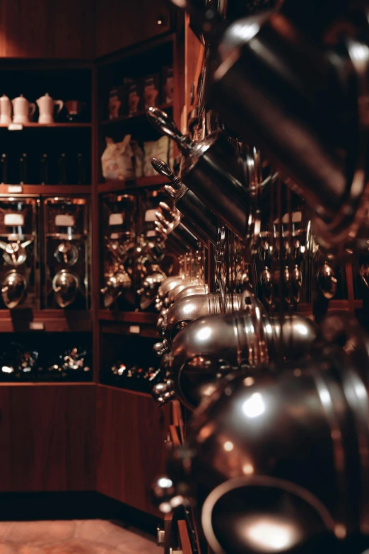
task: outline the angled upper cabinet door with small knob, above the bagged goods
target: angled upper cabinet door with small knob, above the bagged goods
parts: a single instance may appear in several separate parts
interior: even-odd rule
[[[143,42],[170,30],[170,4],[166,0],[97,0],[98,57]]]

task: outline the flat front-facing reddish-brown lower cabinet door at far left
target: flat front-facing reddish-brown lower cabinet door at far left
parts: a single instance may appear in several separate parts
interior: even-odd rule
[[[95,390],[0,386],[0,491],[95,489]]]

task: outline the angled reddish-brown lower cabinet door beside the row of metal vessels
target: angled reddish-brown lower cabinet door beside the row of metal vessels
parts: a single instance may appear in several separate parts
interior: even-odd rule
[[[165,471],[170,408],[150,396],[98,385],[97,490],[144,512],[154,478]]]

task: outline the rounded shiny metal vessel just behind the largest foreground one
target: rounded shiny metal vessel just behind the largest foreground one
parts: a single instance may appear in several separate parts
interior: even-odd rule
[[[195,296],[191,300],[177,302],[168,311],[165,337],[172,349],[171,372],[177,396],[192,410],[221,377],[240,364],[258,367],[278,355],[301,359],[317,340],[315,323],[298,313],[283,316],[281,343],[279,318],[269,318],[260,305],[255,306],[259,311],[255,317],[248,311],[198,317],[195,303],[201,304],[202,299]],[[206,302],[204,311],[209,309]],[[181,306],[176,312],[177,304]],[[188,314],[184,313],[185,306]],[[186,325],[190,319],[183,318],[191,318],[191,310],[198,318]]]

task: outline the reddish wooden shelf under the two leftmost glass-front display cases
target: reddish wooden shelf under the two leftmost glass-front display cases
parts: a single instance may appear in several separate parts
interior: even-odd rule
[[[35,325],[35,328],[33,328]],[[40,327],[37,329],[37,327]],[[18,308],[0,310],[0,333],[76,333],[92,330],[90,311],[33,310]]]

